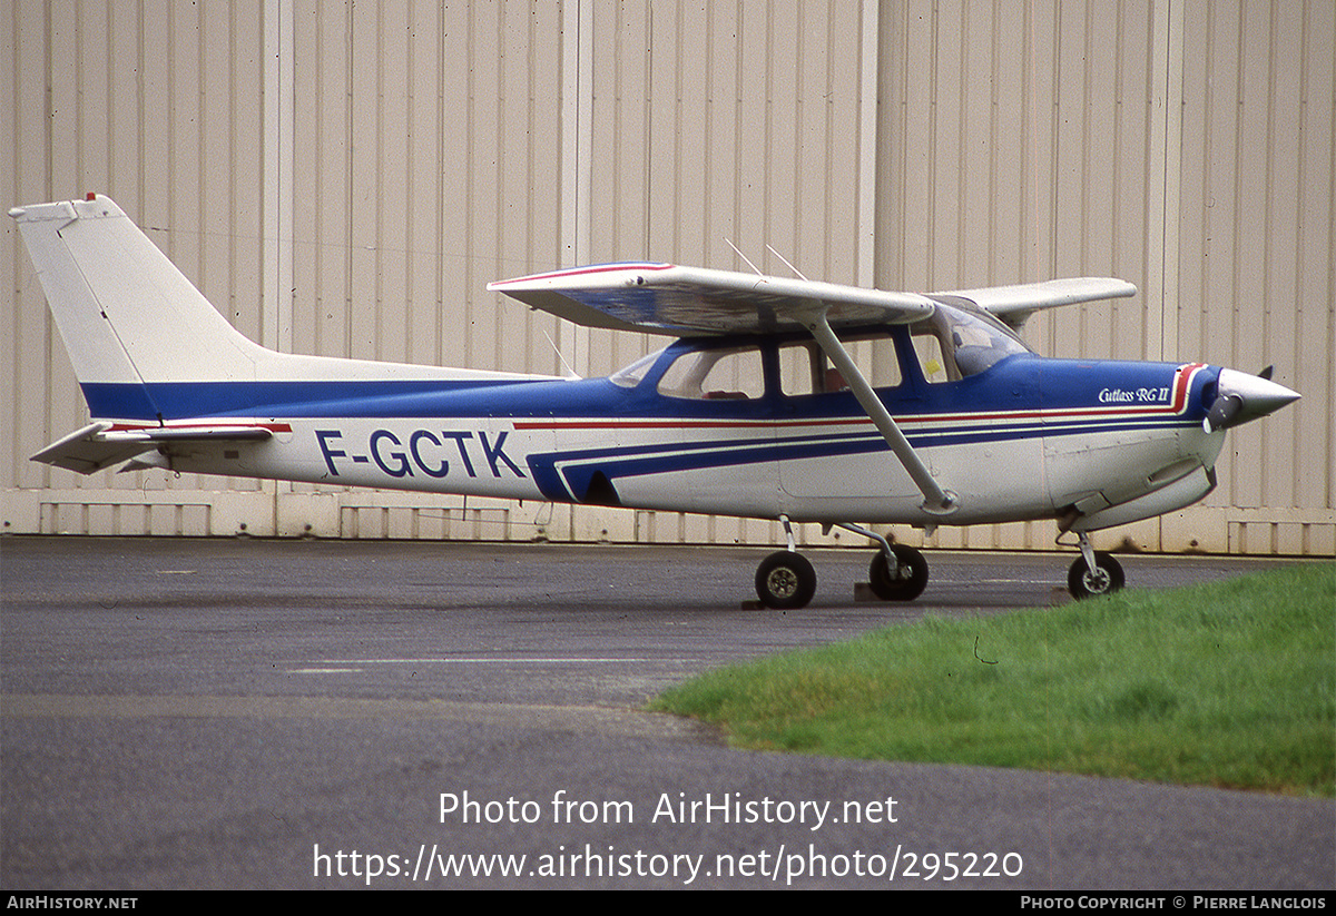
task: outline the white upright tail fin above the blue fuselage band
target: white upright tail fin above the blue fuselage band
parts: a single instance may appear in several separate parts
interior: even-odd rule
[[[110,198],[9,215],[86,391],[99,383],[255,378],[270,351],[228,324]]]

